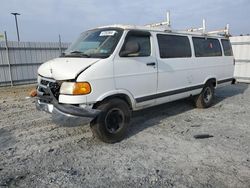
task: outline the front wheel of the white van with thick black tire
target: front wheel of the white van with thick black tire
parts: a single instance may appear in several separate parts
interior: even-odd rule
[[[128,104],[118,98],[98,105],[101,113],[90,123],[93,135],[106,143],[119,142],[126,136],[131,111]]]

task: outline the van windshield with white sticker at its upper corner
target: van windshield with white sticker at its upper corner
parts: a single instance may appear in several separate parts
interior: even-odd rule
[[[103,28],[86,31],[63,53],[63,57],[109,57],[118,44],[123,30]]]

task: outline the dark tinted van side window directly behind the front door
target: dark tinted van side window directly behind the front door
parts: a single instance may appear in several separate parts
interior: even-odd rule
[[[161,58],[191,57],[188,37],[177,35],[157,35]]]

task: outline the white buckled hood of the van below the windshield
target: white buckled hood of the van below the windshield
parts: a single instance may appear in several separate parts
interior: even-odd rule
[[[70,80],[84,69],[96,63],[97,58],[56,58],[43,63],[38,68],[38,74],[55,80]]]

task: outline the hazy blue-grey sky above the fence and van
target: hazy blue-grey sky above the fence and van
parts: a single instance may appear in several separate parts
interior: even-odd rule
[[[108,24],[163,21],[171,12],[174,29],[201,26],[209,30],[230,24],[233,35],[250,33],[250,0],[0,0],[0,32],[17,40],[14,16],[18,16],[21,41],[71,42],[82,31]]]

